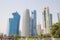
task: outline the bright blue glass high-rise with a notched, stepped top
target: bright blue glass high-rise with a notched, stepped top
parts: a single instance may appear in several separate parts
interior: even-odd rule
[[[9,36],[19,34],[20,15],[18,12],[12,13],[13,18],[9,18]]]

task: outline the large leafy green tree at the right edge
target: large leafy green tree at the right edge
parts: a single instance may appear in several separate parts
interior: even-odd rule
[[[51,26],[50,33],[54,38],[60,38],[60,22],[57,22]]]

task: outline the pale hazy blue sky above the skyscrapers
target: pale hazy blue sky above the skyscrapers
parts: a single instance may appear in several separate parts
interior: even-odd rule
[[[37,11],[37,24],[42,27],[42,11],[45,6],[53,15],[53,23],[58,21],[57,13],[60,12],[60,0],[0,0],[0,33],[8,34],[9,18],[13,12],[18,12],[22,18],[25,9]]]

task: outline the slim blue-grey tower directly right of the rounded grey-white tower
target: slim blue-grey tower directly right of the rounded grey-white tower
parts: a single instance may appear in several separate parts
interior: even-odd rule
[[[30,21],[30,27],[31,27],[31,36],[37,35],[36,30],[36,10],[34,10],[31,14],[31,21]]]

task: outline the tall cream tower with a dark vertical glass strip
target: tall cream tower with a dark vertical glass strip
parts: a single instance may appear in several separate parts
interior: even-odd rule
[[[42,13],[43,17],[43,27],[44,27],[44,34],[50,33],[50,14],[49,14],[49,7],[45,7]]]

